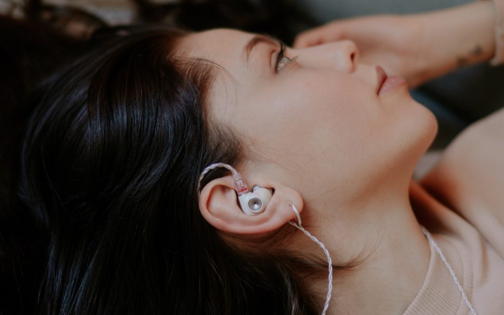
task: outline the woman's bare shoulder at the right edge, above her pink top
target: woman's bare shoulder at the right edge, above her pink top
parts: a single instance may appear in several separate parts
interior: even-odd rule
[[[473,224],[504,232],[504,109],[464,130],[420,184]]]

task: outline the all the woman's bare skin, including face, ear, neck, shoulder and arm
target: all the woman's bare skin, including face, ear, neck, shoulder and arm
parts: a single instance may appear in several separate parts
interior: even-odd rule
[[[272,70],[278,45],[262,43],[244,62],[243,45],[252,34],[212,30],[186,37],[184,55],[213,60],[225,70],[212,86],[208,108],[214,121],[242,139],[238,171],[249,186],[275,189],[264,213],[246,216],[236,205],[231,177],[218,178],[203,188],[202,215],[218,229],[253,236],[293,219],[286,206],[292,201],[335,264],[367,257],[336,274],[328,313],[402,314],[430,259],[415,214],[428,220],[429,213],[456,211],[477,226],[493,227],[493,233],[481,233],[499,244],[495,231],[504,219],[502,176],[496,174],[503,171],[504,113],[471,125],[416,183],[413,168],[435,135],[435,120],[405,86],[376,95],[373,64],[379,60],[416,85],[460,67],[458,60],[487,61],[494,53],[493,19],[492,2],[477,2],[396,20],[334,22],[301,34],[297,49],[285,53],[297,56],[296,62],[278,74]],[[401,33],[405,29],[411,36]],[[342,39],[355,39],[363,57]],[[373,40],[379,44],[367,49]],[[281,246],[326,259],[302,233]],[[323,303],[326,280],[314,281],[311,289]]]

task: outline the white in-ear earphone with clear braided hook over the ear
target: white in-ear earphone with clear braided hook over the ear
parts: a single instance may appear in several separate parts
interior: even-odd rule
[[[238,194],[238,201],[240,203],[240,208],[243,213],[248,215],[256,215],[262,213],[268,202],[271,199],[272,191],[268,188],[260,187],[255,185],[250,192],[245,183],[243,177],[238,173],[234,167],[226,163],[214,163],[207,166],[201,173],[200,179],[198,181],[198,194],[200,193],[200,186],[203,177],[212,169],[217,167],[225,167],[231,171],[233,174],[233,181],[236,193]]]

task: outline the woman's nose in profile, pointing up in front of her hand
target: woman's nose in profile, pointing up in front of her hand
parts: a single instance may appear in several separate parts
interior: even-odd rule
[[[359,51],[351,40],[340,40],[301,49],[293,49],[296,61],[306,67],[335,68],[353,73],[357,68]]]

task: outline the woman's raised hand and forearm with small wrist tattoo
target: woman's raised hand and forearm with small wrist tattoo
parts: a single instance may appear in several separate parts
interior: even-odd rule
[[[478,1],[422,14],[338,20],[299,34],[294,47],[350,39],[359,47],[362,62],[381,65],[415,87],[492,58],[496,12],[494,2]]]

